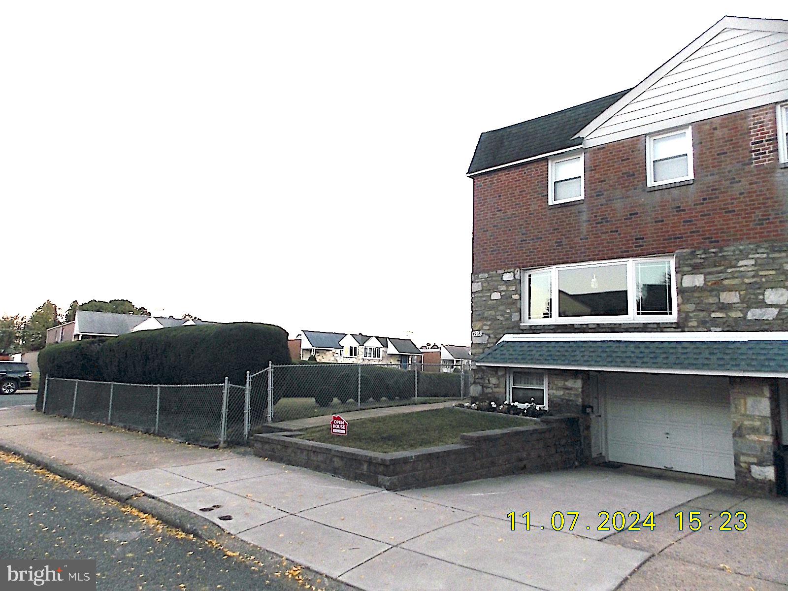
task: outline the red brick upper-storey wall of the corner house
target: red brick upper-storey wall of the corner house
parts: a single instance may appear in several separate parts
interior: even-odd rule
[[[474,178],[474,273],[788,240],[775,106],[693,124],[695,179],[645,184],[645,136],[585,151],[585,200],[548,206],[547,160]]]

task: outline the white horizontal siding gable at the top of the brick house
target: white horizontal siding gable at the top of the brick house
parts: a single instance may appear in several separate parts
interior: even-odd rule
[[[656,80],[638,85],[619,110],[605,114],[606,120],[582,130],[584,145],[788,99],[788,25],[773,21],[764,28],[770,27],[775,30],[723,28]]]

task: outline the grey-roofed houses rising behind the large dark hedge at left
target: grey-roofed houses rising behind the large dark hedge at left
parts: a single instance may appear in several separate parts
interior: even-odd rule
[[[66,322],[46,331],[46,344],[62,343],[67,340],[96,339],[103,336],[136,333],[138,330],[154,330],[170,326],[195,324],[206,324],[206,322],[138,314],[113,314],[111,312],[76,310],[76,316],[72,322]]]

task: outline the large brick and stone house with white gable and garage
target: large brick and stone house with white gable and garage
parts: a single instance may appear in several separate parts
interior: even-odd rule
[[[473,396],[581,415],[589,461],[775,491],[786,72],[788,21],[725,17],[630,90],[481,135]]]

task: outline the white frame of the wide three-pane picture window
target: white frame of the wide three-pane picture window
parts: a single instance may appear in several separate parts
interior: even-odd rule
[[[637,277],[635,269],[638,262],[670,262],[671,265],[671,306],[672,314],[637,314]],[[558,273],[561,269],[582,269],[593,266],[609,266],[626,264],[626,295],[627,313],[621,316],[571,316],[561,318],[558,309]],[[526,281],[530,273],[548,271],[550,273],[550,318],[528,318],[528,289]],[[672,256],[640,257],[640,258],[615,258],[608,261],[593,261],[540,267],[537,269],[523,269],[520,273],[520,325],[558,325],[558,324],[627,324],[645,322],[676,322],[678,320],[678,287],[676,286],[676,261]]]

